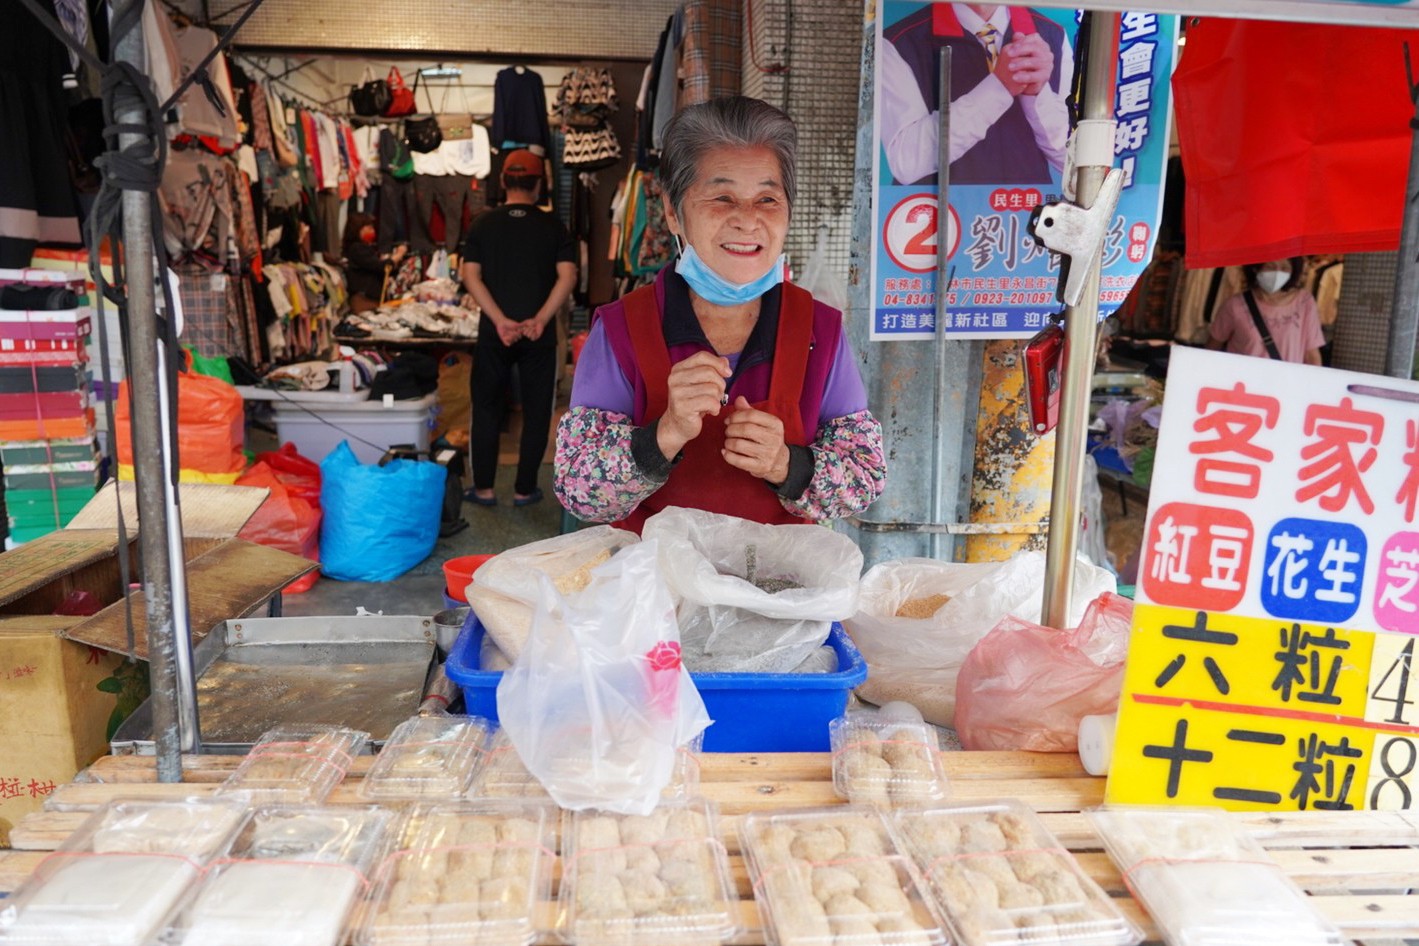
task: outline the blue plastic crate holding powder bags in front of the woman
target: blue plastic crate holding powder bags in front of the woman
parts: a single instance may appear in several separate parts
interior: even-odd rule
[[[482,624],[474,618],[444,664],[463,688],[464,712],[498,718],[502,671],[480,669]],[[827,644],[837,652],[832,674],[691,674],[714,725],[705,752],[827,752],[827,723],[843,715],[853,688],[867,679],[867,662],[841,624]]]

